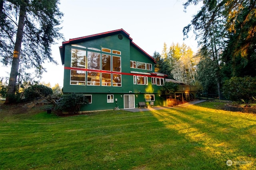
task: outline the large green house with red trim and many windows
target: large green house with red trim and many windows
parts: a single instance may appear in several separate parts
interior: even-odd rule
[[[69,39],[60,47],[63,94],[79,93],[89,103],[81,111],[165,106],[160,97],[165,74],[123,29]]]

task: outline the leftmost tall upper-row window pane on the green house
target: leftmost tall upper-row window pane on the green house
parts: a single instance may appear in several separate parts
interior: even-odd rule
[[[86,51],[71,49],[71,67],[85,68]]]

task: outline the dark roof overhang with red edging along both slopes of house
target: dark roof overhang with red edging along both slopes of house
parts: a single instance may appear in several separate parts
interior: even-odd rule
[[[117,33],[122,33],[124,36],[126,36],[128,39],[130,39],[130,45],[135,47],[138,51],[140,51],[141,53],[146,55],[149,59],[154,61],[154,63],[156,63],[156,61],[153,57],[151,57],[148,53],[146,53],[144,50],[142,50],[138,45],[136,45],[134,42],[132,42],[132,38],[126,31],[124,31],[124,29],[116,29],[116,30],[108,31],[108,32],[104,32],[104,33],[98,33],[98,34],[88,35],[88,36],[84,36],[84,37],[73,38],[73,39],[69,39],[69,41],[62,42],[62,46],[59,47],[62,65],[64,64],[65,45],[78,43],[81,41],[88,41],[91,39],[97,39],[97,38],[101,38],[101,37],[106,37],[106,36],[114,35]]]

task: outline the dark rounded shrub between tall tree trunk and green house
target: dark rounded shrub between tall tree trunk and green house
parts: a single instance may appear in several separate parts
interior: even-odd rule
[[[35,84],[28,87],[24,92],[25,100],[34,100],[37,97],[46,97],[52,95],[52,89],[42,84]]]

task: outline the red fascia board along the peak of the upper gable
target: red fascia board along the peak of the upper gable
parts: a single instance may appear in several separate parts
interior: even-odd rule
[[[93,35],[87,35],[87,36],[84,36],[84,37],[69,39],[69,41],[62,42],[62,45],[69,44],[72,41],[79,41],[79,40],[84,40],[84,39],[88,39],[88,38],[95,38],[95,37],[98,37],[98,36],[106,36],[108,34],[113,34],[113,33],[118,33],[118,32],[124,33],[124,35],[126,35],[126,37],[128,37],[130,39],[130,41],[132,41],[132,38],[130,37],[130,35],[126,31],[124,31],[124,29],[116,29],[116,30],[107,31],[107,32],[104,32],[104,33],[98,33],[98,34],[93,34]]]

